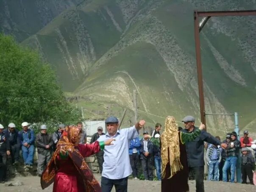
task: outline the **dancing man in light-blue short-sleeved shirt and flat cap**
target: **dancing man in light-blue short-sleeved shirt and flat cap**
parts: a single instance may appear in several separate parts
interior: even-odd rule
[[[114,145],[105,146],[104,163],[101,177],[102,192],[111,192],[113,186],[117,192],[127,192],[128,176],[131,175],[131,164],[129,160],[129,144],[131,139],[139,136],[139,130],[145,125],[140,120],[131,128],[118,129],[117,117],[108,117],[105,120],[108,132],[100,136],[98,141],[106,141],[114,138]]]

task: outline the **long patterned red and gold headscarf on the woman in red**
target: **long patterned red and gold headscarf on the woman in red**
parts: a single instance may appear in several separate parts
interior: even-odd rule
[[[86,161],[83,156],[80,154],[79,150],[75,148],[75,143],[78,140],[79,133],[81,128],[76,126],[66,127],[63,134],[61,135],[61,139],[58,142],[57,149],[52,156],[49,164],[46,169],[42,173],[41,176],[41,186],[42,189],[50,186],[55,179],[55,175],[57,172],[56,161],[57,156],[60,153],[61,146],[64,147],[65,150],[68,150],[68,156],[72,159],[78,173],[83,178],[83,183],[86,189],[86,192],[101,192],[100,184],[95,179],[92,174],[92,171],[89,169]]]

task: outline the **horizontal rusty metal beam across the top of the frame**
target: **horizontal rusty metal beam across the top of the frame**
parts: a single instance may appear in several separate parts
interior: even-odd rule
[[[199,17],[220,17],[220,16],[253,16],[256,10],[248,11],[195,11]]]

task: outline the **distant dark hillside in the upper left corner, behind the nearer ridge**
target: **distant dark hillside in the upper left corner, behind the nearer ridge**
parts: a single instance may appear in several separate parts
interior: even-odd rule
[[[84,0],[1,0],[0,32],[20,42],[47,25],[62,11]]]

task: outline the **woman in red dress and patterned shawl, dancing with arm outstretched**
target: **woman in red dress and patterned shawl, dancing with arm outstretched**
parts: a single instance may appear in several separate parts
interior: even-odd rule
[[[53,184],[53,192],[101,192],[100,184],[89,169],[84,157],[111,145],[114,139],[92,144],[78,144],[81,128],[66,127],[52,159],[41,176],[41,186],[45,189]]]

